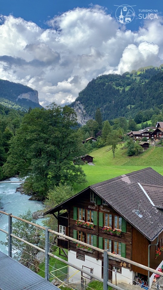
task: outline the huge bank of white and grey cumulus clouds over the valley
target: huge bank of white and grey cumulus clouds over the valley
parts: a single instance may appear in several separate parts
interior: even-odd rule
[[[1,22],[0,78],[37,89],[43,106],[74,101],[100,74],[163,63],[161,18],[133,32],[96,5],[55,16],[44,30],[12,15]]]

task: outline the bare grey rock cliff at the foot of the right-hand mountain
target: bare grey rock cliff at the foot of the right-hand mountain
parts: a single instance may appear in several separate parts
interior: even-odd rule
[[[92,116],[86,113],[83,105],[79,101],[75,101],[72,107],[77,114],[78,124],[83,126],[88,120],[92,119]]]

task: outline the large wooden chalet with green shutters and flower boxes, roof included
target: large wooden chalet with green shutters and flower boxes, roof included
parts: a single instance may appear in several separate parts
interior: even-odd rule
[[[147,271],[124,263],[121,257],[153,269],[162,266],[163,176],[155,170],[149,167],[90,185],[45,214],[57,217],[59,233],[79,241],[76,244],[57,238],[58,246],[68,249],[71,263],[93,269],[95,275],[103,277],[101,253],[82,249],[80,241],[83,241],[117,253],[117,259],[109,258],[110,281],[115,283],[116,269],[117,283],[132,284],[137,275],[143,276],[146,282],[149,279],[151,287],[154,274],[150,273],[149,278]],[[160,251],[160,255],[156,251]],[[80,274],[72,270],[69,277],[71,275],[73,282],[81,279]]]

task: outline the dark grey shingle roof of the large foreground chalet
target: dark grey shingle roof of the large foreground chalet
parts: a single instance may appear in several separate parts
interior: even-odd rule
[[[157,184],[159,184],[160,188],[163,188],[163,176],[148,167],[99,182],[89,186],[89,188],[107,201],[115,211],[122,215],[147,239],[153,241],[163,231],[163,212],[157,208],[160,202],[155,198],[155,195],[158,194],[157,192],[161,191],[161,189],[158,189]],[[153,190],[150,188],[153,188]],[[154,188],[156,188],[156,193]],[[84,191],[77,195],[82,195]],[[73,198],[70,199],[73,200]],[[67,201],[70,201],[70,199]],[[67,201],[47,211],[45,214],[58,211]],[[139,201],[141,218],[135,213],[137,201]],[[73,203],[73,201],[71,202]]]

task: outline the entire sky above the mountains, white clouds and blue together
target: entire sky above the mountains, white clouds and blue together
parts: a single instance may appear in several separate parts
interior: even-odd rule
[[[163,63],[162,11],[160,0],[1,0],[0,78],[43,106],[72,102],[98,75]]]

